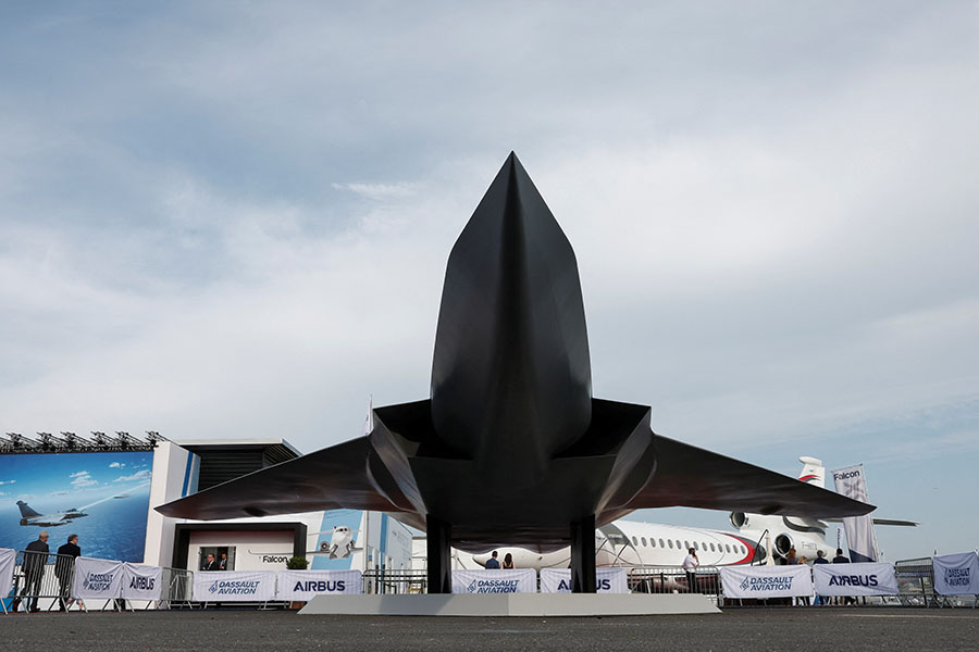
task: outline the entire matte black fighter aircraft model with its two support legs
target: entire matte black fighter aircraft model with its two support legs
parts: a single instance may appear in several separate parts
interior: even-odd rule
[[[873,510],[656,435],[649,413],[592,398],[574,252],[511,152],[449,254],[431,398],[376,408],[367,436],[157,510],[199,519],[388,512],[426,531],[431,593],[451,591],[450,546],[569,543],[572,590],[595,592],[595,527],[633,510]]]

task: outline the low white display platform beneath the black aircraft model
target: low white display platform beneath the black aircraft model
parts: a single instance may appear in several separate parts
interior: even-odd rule
[[[699,593],[506,593],[495,595],[317,595],[300,615],[362,616],[648,616],[719,614]]]

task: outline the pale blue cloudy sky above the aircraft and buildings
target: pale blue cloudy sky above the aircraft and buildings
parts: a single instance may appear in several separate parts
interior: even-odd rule
[[[976,2],[5,2],[0,430],[359,435],[516,150],[596,396],[971,550],[976,115]]]

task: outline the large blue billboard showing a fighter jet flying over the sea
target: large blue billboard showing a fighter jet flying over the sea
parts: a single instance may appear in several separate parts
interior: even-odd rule
[[[152,451],[0,455],[0,548],[48,530],[51,552],[78,535],[82,554],[141,562]]]

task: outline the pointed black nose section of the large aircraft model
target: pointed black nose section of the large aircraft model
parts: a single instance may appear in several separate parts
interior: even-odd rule
[[[431,409],[497,492],[540,481],[592,419],[574,251],[512,154],[449,254]]]

